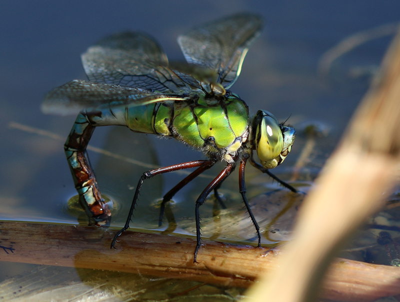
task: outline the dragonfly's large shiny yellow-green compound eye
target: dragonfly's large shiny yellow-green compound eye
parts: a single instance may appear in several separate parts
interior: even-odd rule
[[[259,110],[255,117],[255,150],[264,168],[275,168],[283,149],[283,135],[277,119],[268,111]]]

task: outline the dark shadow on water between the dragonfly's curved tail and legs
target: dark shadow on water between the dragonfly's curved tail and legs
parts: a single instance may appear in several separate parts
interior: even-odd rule
[[[143,172],[158,166],[157,155],[151,140],[143,134],[132,133],[125,127],[112,127],[103,148],[120,158],[101,155],[94,164],[100,191],[117,204],[112,213],[112,225],[122,225],[132,202],[136,183]],[[135,159],[138,164],[121,158]],[[141,165],[140,165],[141,163]],[[148,205],[162,196],[162,177],[154,177],[143,185],[135,218],[131,227],[154,228],[156,215]],[[151,217],[149,217],[151,216]]]

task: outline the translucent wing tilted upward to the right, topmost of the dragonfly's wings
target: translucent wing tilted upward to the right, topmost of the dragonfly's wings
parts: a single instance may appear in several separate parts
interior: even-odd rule
[[[180,35],[178,43],[189,64],[214,70],[219,75],[218,82],[230,88],[261,27],[258,15],[235,14]]]

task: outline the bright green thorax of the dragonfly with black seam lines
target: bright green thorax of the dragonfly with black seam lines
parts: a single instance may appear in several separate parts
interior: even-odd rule
[[[248,137],[248,107],[235,95],[175,102],[171,132],[213,158],[233,162]]]

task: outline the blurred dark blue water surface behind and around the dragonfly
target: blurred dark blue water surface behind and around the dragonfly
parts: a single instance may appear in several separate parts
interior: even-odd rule
[[[86,79],[80,54],[87,47],[110,33],[139,30],[152,35],[169,60],[183,60],[176,42],[179,34],[237,12],[260,14],[264,29],[231,90],[246,101],[250,112],[268,110],[297,129],[292,153],[273,172],[306,190],[376,72],[400,21],[399,11],[396,0],[1,1],[0,219],[77,222],[66,210],[76,191],[63,152],[75,116],[43,115],[40,103],[52,88]],[[344,39],[347,43],[340,44]],[[293,178],[293,167],[307,144],[308,125],[322,135]],[[149,165],[204,158],[174,140],[123,127],[99,127],[90,145],[125,158],[89,151],[99,187],[117,207],[115,227],[123,224],[133,189]],[[207,171],[176,195],[172,212],[181,225],[188,221],[193,226],[194,201],[221,168]],[[140,214],[131,226],[156,229],[157,201],[182,177],[174,173],[148,181],[137,207]],[[246,179],[250,197],[278,188],[251,167]],[[220,191],[229,207],[242,208],[237,173]],[[212,203],[204,205],[204,217],[211,210]],[[192,234],[179,227],[176,231]]]

